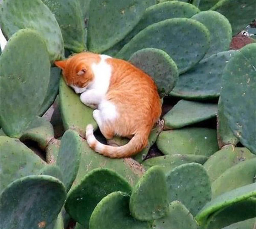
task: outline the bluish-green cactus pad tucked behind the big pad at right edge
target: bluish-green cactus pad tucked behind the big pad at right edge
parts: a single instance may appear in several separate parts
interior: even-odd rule
[[[201,60],[179,76],[170,95],[184,99],[214,99],[220,95],[222,71],[236,51],[224,51]]]

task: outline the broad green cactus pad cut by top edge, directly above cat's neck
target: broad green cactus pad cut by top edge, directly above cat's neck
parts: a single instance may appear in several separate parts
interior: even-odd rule
[[[140,0],[91,1],[87,35],[89,50],[100,53],[122,40],[139,22],[145,8],[146,1]]]

